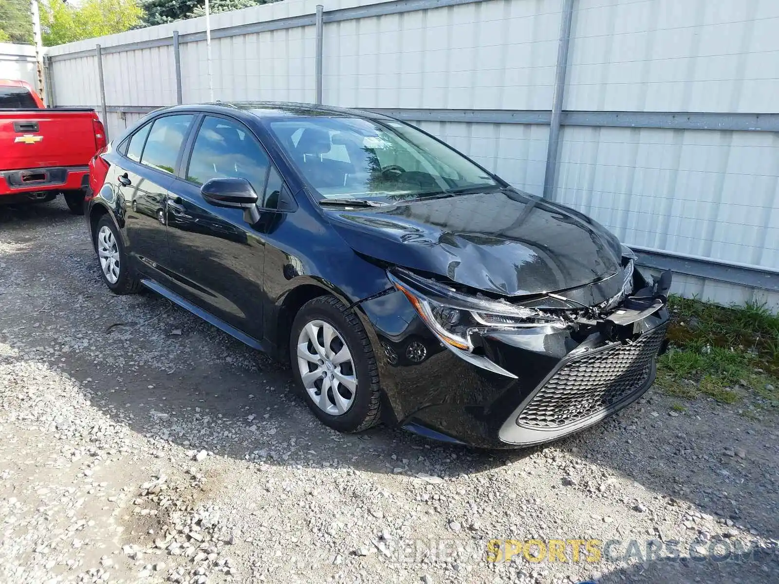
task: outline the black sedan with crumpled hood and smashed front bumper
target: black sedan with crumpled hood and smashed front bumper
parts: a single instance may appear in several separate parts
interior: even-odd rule
[[[155,111],[91,163],[105,283],[154,290],[291,363],[319,420],[490,448],[637,399],[664,348],[647,280],[594,220],[366,111]]]

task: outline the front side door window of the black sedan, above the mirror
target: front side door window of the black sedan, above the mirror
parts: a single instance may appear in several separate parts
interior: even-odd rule
[[[192,146],[187,180],[203,185],[217,177],[245,178],[261,195],[269,165],[262,146],[243,125],[206,116]]]

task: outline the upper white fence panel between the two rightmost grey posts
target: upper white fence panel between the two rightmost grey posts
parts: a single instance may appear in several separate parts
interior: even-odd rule
[[[548,109],[559,0],[492,0],[326,23],[327,104]]]

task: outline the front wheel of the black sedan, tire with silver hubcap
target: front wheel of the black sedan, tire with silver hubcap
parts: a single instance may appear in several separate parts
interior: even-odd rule
[[[354,311],[332,296],[308,301],[289,344],[295,383],[323,424],[359,432],[379,423],[379,369]]]

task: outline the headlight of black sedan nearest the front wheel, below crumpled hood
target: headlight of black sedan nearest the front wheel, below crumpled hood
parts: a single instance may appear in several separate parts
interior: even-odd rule
[[[442,343],[472,352],[474,337],[489,330],[551,326],[564,329],[562,318],[507,301],[471,296],[428,280],[407,270],[387,272],[393,285],[403,292],[420,318]]]

